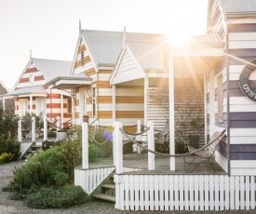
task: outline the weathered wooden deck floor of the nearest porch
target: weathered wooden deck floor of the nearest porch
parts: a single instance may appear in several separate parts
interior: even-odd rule
[[[190,156],[187,157],[191,158]],[[196,158],[192,166],[202,161],[202,158]],[[95,162],[89,163],[89,168],[97,167],[111,167],[113,166],[113,158],[99,158]],[[169,170],[169,158],[166,156],[155,155],[155,170],[147,170],[148,159],[147,154],[125,154],[124,155],[124,167],[136,167],[145,169],[143,171],[126,172],[129,174],[188,174],[188,175],[225,175],[226,172],[216,162],[214,162],[215,172],[213,167],[209,164],[208,160],[202,162],[195,167],[195,170],[188,173],[184,169],[184,160],[182,157],[176,157],[176,170]],[[189,167],[188,167],[189,168]]]

